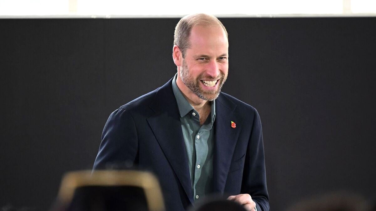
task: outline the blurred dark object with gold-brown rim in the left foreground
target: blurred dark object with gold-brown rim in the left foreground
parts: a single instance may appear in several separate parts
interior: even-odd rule
[[[53,211],[164,211],[156,177],[137,170],[67,173]]]

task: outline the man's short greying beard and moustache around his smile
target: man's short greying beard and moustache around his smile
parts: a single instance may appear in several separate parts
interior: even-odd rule
[[[203,73],[200,74],[196,79],[194,79],[189,74],[188,66],[186,65],[185,61],[183,60],[182,68],[180,69],[180,79],[185,84],[186,87],[188,87],[193,93],[195,93],[199,98],[207,101],[213,101],[218,98],[219,93],[221,92],[221,88],[224,84],[224,81],[227,79],[227,75],[224,75],[222,72],[220,72],[220,75],[218,78],[212,78],[212,77],[203,77]],[[218,80],[218,89],[216,90],[204,90],[202,89],[200,83],[200,78],[205,80]],[[205,86],[205,85],[204,85]]]

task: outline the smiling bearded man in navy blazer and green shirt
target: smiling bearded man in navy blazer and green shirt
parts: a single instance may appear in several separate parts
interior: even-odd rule
[[[259,115],[220,92],[228,73],[223,24],[206,14],[183,17],[173,60],[173,79],[110,115],[94,169],[124,161],[151,169],[171,211],[212,193],[269,210]]]

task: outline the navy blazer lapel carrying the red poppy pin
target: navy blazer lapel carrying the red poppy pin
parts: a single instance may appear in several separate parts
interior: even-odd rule
[[[241,118],[234,113],[236,105],[222,93],[215,101],[215,135],[213,190],[223,193],[232,155],[241,131]],[[231,127],[231,121],[236,127]]]

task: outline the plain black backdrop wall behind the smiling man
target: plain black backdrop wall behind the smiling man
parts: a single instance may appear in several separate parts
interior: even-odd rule
[[[376,18],[221,18],[223,91],[261,116],[270,205],[374,197]],[[176,18],[0,20],[0,207],[47,209],[108,115],[173,77]]]

